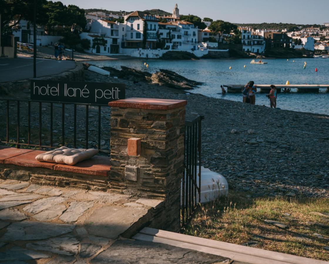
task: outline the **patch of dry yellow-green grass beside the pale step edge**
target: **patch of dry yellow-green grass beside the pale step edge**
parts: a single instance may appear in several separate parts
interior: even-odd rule
[[[329,247],[329,223],[312,213],[328,213],[328,205],[326,198],[250,198],[231,191],[227,198],[203,205],[184,233],[234,244],[257,241],[257,248],[329,260],[329,251],[323,249]],[[280,229],[266,219],[289,227]],[[293,236],[312,241],[300,242]]]

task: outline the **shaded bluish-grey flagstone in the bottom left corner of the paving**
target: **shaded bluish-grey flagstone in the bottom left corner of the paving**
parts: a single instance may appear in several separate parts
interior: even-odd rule
[[[4,260],[32,260],[39,258],[49,258],[50,256],[45,253],[36,252],[29,249],[23,249],[21,247],[13,247],[5,252],[0,252],[0,259]],[[17,263],[15,261],[15,263]],[[26,263],[26,262],[24,262]]]

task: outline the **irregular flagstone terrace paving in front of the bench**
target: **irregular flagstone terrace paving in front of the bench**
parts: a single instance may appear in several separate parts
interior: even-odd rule
[[[122,241],[120,234],[140,224],[139,220],[149,210],[158,208],[161,200],[72,187],[40,186],[17,180],[0,179],[0,185],[0,219],[4,220],[0,220],[0,261],[15,264],[25,261],[42,264],[127,263],[129,257],[133,260],[134,254],[140,263],[194,263],[198,260],[199,256],[192,257],[180,248],[141,246],[133,240],[118,242]],[[123,255],[115,256],[116,253]],[[157,256],[152,259],[149,253]],[[172,259],[165,262],[169,258]],[[220,257],[216,256],[215,260]],[[207,261],[200,263],[214,263]]]

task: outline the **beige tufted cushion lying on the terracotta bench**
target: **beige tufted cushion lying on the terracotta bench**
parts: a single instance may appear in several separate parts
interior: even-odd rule
[[[67,165],[75,165],[80,161],[88,160],[98,153],[97,149],[68,148],[62,146],[54,150],[39,154],[36,160],[40,162],[51,162]]]

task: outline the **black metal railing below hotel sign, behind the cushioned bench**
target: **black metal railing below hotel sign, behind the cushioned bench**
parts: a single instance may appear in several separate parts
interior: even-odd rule
[[[3,102],[5,104],[3,104]],[[3,117],[2,121],[6,122],[6,126],[4,126],[4,123],[0,126],[1,143],[15,145],[16,148],[52,149],[58,148],[61,145],[76,148],[78,145],[78,135],[80,138],[84,136],[83,139],[79,140],[80,143],[78,147],[92,147],[97,148],[100,153],[110,153],[110,131],[106,133],[108,137],[105,136],[108,141],[108,148],[105,147],[101,149],[101,143],[103,143],[101,139],[102,110],[108,112],[106,114],[110,116],[110,107],[98,104],[17,99],[0,99],[0,103],[6,105],[6,110],[4,110],[4,107],[0,107],[0,115]],[[54,107],[56,107],[55,113]],[[98,117],[98,119],[93,119],[92,121],[92,126],[97,127],[97,129],[92,128],[93,131],[89,130],[89,108],[92,108],[93,113],[97,113]],[[2,121],[0,121],[0,124]],[[107,122],[110,123],[109,120],[107,120]],[[80,125],[81,123],[84,123],[84,131],[80,129],[77,133],[77,124]],[[61,131],[55,130],[54,125]],[[65,126],[70,126],[70,128],[66,128],[67,131],[65,131]],[[5,131],[4,127],[6,127]],[[97,130],[97,134],[94,132],[95,130]],[[56,135],[54,136],[55,132]],[[103,131],[103,134],[104,133]],[[90,136],[93,141],[89,144]],[[54,139],[56,139],[57,142],[54,142]],[[105,142],[106,141],[104,141],[104,144]]]

